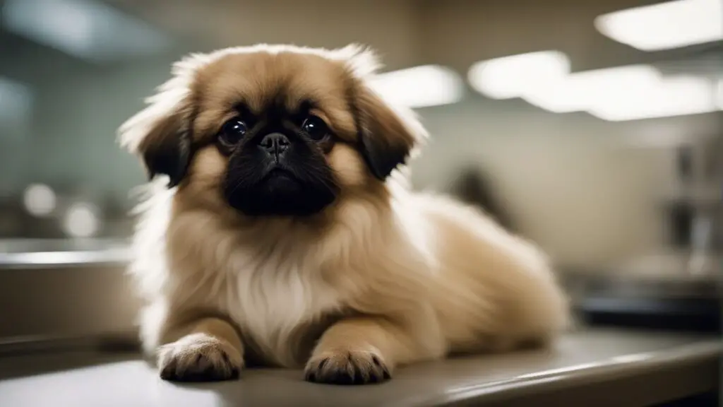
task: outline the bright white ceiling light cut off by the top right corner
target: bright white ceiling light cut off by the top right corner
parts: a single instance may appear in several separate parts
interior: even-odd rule
[[[659,51],[723,40],[723,1],[676,0],[596,17],[594,25],[613,40]]]

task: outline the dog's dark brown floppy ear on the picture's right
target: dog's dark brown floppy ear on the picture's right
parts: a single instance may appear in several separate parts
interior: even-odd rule
[[[356,114],[361,154],[372,175],[385,180],[427,138],[427,130],[411,109],[393,106],[372,89],[367,77],[379,67],[373,51],[348,46],[346,64],[350,68],[352,85],[350,104]]]

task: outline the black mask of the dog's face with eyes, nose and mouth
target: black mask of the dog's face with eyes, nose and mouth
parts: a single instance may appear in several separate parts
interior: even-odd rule
[[[228,159],[226,201],[249,215],[314,214],[339,191],[326,158],[333,133],[310,100],[269,102],[260,112],[237,107],[221,127],[216,144]]]

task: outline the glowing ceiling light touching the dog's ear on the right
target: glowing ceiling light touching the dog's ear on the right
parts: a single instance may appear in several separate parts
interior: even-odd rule
[[[385,100],[413,109],[454,104],[464,94],[457,72],[439,65],[385,72],[372,77],[370,85]]]

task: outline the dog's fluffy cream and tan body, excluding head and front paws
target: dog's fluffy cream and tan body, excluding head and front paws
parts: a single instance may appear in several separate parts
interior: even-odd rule
[[[265,236],[250,237],[254,245],[250,231],[214,213],[171,221],[175,191],[153,189],[132,267],[151,304],[142,318],[147,351],[163,343],[169,308],[226,314],[270,363],[287,367],[304,364],[306,355],[294,353],[297,327],[348,308],[408,322],[422,343],[403,362],[505,350],[547,340],[567,324],[544,255],[448,198],[390,185],[393,204],[346,204],[343,222],[315,240],[304,226],[278,221],[259,227]],[[167,251],[180,257],[172,272]],[[184,267],[186,256],[193,266]]]

